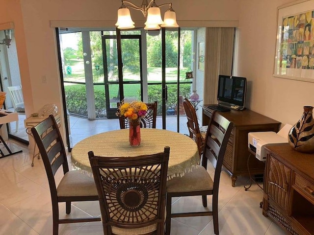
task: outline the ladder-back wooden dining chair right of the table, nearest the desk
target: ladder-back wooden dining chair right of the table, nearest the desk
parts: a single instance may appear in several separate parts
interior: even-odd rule
[[[221,167],[227,148],[227,143],[233,128],[233,122],[227,120],[217,112],[213,112],[209,120],[202,164],[196,166],[189,173],[182,177],[174,177],[167,181],[166,194],[166,235],[170,235],[171,218],[212,215],[214,233],[219,234],[218,226],[218,189]],[[210,161],[215,168],[214,179],[212,180],[207,171],[207,161]],[[212,195],[212,211],[200,212],[171,212],[173,197],[201,195],[203,206],[207,207],[207,195]]]

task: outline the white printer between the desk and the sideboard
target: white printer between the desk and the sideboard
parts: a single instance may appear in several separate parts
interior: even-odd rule
[[[291,125],[286,124],[278,133],[273,131],[249,132],[248,148],[255,153],[260,161],[266,161],[265,146],[288,143],[288,132]]]

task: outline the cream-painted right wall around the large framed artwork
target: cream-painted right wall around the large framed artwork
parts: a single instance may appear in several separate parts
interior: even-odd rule
[[[314,6],[314,0],[312,6]],[[249,80],[249,108],[294,124],[314,106],[314,83],[273,77],[277,7],[291,0],[241,0],[237,74]]]

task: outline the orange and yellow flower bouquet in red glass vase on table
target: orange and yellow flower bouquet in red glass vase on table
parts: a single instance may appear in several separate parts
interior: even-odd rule
[[[147,105],[142,101],[133,101],[131,103],[121,102],[118,107],[117,116],[127,118],[130,123],[129,141],[132,146],[140,145],[140,120],[146,115]]]

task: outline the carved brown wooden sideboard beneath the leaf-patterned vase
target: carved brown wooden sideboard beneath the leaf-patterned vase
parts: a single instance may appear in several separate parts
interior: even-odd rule
[[[266,147],[263,215],[292,235],[314,234],[314,154]]]

